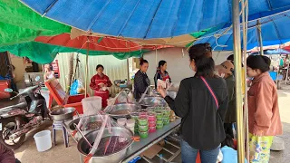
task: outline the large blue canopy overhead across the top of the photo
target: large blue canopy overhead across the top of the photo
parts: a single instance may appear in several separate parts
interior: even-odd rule
[[[231,0],[22,0],[39,14],[83,31],[131,38],[191,34],[231,22]],[[249,17],[290,7],[290,0],[248,0]]]

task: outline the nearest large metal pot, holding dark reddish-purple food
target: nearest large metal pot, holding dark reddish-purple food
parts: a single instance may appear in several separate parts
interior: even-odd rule
[[[99,130],[94,130],[88,133],[87,135],[85,135],[85,137],[92,144],[92,142],[96,139],[98,133],[99,133]],[[121,159],[125,157],[127,150],[131,147],[131,144],[133,143],[133,140],[131,139],[131,137],[133,136],[132,131],[126,128],[112,127],[111,133],[110,133],[109,130],[106,128],[103,132],[102,138],[109,137],[109,136],[121,136],[123,138],[128,139],[129,143],[123,149],[111,155],[102,156],[102,157],[93,156],[90,160],[90,163],[101,163],[101,162],[102,163],[116,163],[116,162],[120,162]],[[85,142],[84,139],[80,139],[77,147],[81,155],[81,162],[83,162],[83,158],[85,158],[85,156],[87,155],[85,151],[89,149],[89,145]]]

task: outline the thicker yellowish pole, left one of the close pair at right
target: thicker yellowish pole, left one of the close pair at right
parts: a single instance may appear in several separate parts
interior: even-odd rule
[[[233,0],[233,36],[234,36],[234,63],[236,78],[236,102],[237,102],[237,160],[245,162],[245,136],[243,125],[243,95],[242,95],[242,58],[241,58],[241,31],[239,18],[239,0]]]

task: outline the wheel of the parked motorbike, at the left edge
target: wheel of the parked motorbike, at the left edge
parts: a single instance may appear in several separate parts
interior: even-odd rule
[[[7,149],[18,149],[24,143],[25,134],[14,140],[10,140],[8,138],[10,130],[15,128],[15,120],[2,123],[2,130],[0,131],[0,143],[2,143]]]

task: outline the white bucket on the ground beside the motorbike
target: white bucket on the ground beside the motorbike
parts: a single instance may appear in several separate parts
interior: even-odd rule
[[[36,148],[39,152],[52,148],[52,137],[50,130],[43,130],[34,135]]]

